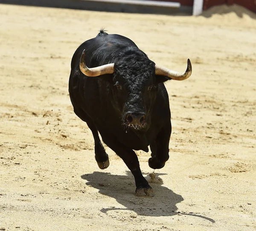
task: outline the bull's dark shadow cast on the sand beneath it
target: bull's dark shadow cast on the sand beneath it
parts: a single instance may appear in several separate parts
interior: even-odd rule
[[[137,197],[134,195],[135,184],[131,173],[128,176],[111,175],[110,173],[94,172],[81,176],[87,180],[87,185],[99,189],[99,193],[111,196],[125,208],[102,208],[106,213],[110,210],[131,210],[144,216],[173,216],[176,215],[176,204],[183,201],[183,197],[174,193],[159,183],[150,183],[155,196]]]

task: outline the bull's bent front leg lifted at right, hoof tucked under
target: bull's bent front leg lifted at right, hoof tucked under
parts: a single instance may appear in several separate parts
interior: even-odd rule
[[[149,167],[160,169],[164,167],[165,162],[169,159],[169,141],[172,133],[171,121],[160,130],[156,139],[151,142],[151,158],[148,159]]]

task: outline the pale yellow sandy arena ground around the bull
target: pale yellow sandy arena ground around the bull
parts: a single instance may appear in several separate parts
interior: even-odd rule
[[[256,20],[0,5],[0,230],[253,231],[256,229]],[[240,16],[241,16],[240,15]],[[210,15],[211,16],[211,15]],[[73,113],[70,60],[101,27],[125,35],[169,81],[170,159],[153,198],[134,196],[108,147]],[[150,179],[149,153],[137,152]]]

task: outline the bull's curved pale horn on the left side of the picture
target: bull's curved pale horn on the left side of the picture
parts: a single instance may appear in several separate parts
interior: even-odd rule
[[[96,77],[99,75],[106,75],[106,74],[113,74],[114,72],[114,65],[115,64],[105,64],[102,66],[97,66],[93,68],[89,68],[85,64],[85,50],[83,51],[81,58],[80,58],[80,70],[84,75],[89,77]]]

